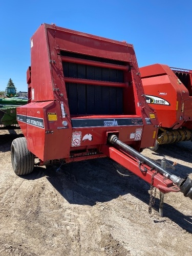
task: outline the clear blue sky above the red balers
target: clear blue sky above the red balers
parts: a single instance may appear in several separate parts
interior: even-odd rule
[[[9,78],[27,91],[30,37],[42,23],[129,42],[139,67],[192,70],[191,9],[191,0],[1,0],[0,91]]]

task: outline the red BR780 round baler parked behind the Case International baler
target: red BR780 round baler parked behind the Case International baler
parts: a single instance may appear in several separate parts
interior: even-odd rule
[[[155,108],[159,144],[192,139],[192,71],[154,64],[139,69],[146,102]]]

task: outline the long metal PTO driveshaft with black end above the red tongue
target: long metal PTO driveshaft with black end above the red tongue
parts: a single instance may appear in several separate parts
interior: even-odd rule
[[[142,154],[140,154],[139,152],[134,150],[134,148],[132,148],[132,147],[126,145],[125,143],[123,143],[122,141],[120,141],[118,139],[118,137],[114,134],[110,135],[108,137],[108,141],[110,143],[114,144],[115,146],[117,146],[118,148],[120,148],[120,150],[128,152],[133,157],[137,158],[139,160],[139,164],[140,164],[140,162],[142,162],[142,163],[145,163],[146,165],[150,166],[152,169],[157,170],[161,175],[163,175],[164,177],[166,177],[167,179],[172,181],[176,186],[178,186],[178,188],[184,194],[185,197],[189,197],[190,199],[192,199],[192,180],[190,178],[186,177],[186,178],[182,179],[182,178],[168,172],[166,169],[159,166],[151,159],[143,156]],[[144,171],[148,172],[148,170],[145,168],[144,168]],[[143,170],[142,170],[142,172],[143,172]]]

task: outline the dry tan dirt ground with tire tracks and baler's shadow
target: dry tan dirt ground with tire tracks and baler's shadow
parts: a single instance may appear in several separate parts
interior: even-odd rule
[[[14,174],[10,159],[20,130],[0,130],[0,255],[192,255],[192,202],[168,193],[159,217],[159,192],[148,214],[150,185],[108,158],[35,166]],[[192,143],[142,154],[174,174],[192,178]]]

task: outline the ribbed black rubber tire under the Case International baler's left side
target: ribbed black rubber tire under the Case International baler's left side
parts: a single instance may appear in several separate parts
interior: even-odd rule
[[[16,138],[11,143],[11,162],[16,175],[33,172],[34,155],[27,148],[25,137]]]

